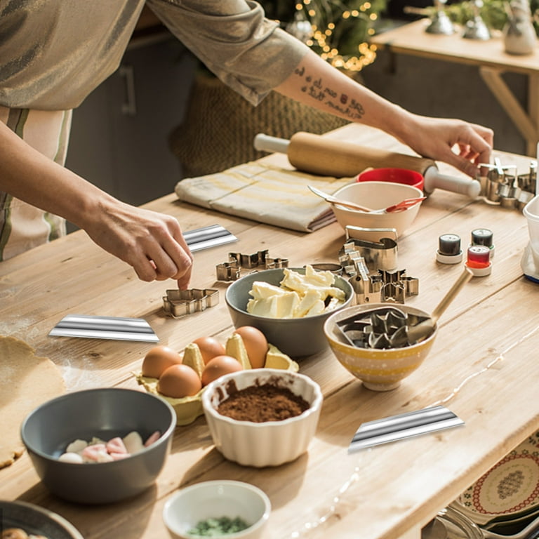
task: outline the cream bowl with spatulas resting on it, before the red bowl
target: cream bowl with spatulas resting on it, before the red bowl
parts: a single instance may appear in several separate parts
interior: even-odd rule
[[[404,199],[422,197],[423,192],[413,185],[392,182],[354,182],[341,187],[333,194],[335,198],[361,204],[373,210],[387,208]],[[335,204],[333,213],[340,226],[362,228],[394,228],[401,237],[417,217],[421,202],[397,213],[366,213]]]

